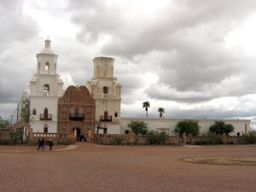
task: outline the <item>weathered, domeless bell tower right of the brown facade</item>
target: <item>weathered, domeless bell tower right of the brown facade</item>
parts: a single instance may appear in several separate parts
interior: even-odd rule
[[[91,96],[96,100],[96,120],[102,122],[104,133],[120,133],[121,84],[113,77],[111,57],[96,57],[94,77],[87,83]]]

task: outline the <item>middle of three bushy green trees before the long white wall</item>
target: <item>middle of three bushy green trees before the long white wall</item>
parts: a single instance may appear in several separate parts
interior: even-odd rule
[[[189,135],[197,136],[197,135],[199,135],[200,129],[201,129],[201,127],[200,127],[200,125],[198,125],[197,120],[185,119],[185,120],[177,122],[174,132],[178,133],[179,137],[182,137],[183,133],[185,133],[186,136],[189,136]]]

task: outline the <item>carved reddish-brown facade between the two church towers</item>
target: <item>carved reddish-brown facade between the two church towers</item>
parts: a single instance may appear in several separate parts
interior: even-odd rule
[[[58,102],[58,132],[90,137],[95,131],[96,102],[85,86],[69,86]]]

